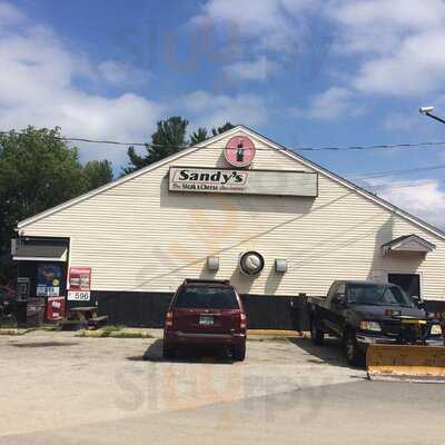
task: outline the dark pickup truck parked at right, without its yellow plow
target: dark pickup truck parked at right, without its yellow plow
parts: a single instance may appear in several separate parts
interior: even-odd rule
[[[444,345],[441,322],[392,284],[337,280],[327,297],[308,297],[310,337],[342,339],[346,359],[363,366],[372,343]]]

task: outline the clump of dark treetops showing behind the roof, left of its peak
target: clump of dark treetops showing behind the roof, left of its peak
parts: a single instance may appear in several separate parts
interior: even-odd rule
[[[160,120],[157,125],[157,130],[151,135],[151,144],[147,144],[146,146],[145,156],[139,156],[134,147],[128,148],[129,165],[122,169],[122,175],[139,170],[142,167],[149,166],[209,138],[207,129],[199,127],[190,135],[190,140],[187,141],[187,126],[188,120],[178,116]],[[211,134],[212,136],[217,136],[234,127],[230,122],[226,122],[221,127],[212,128]]]

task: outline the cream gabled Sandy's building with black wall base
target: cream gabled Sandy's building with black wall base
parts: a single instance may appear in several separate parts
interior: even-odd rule
[[[31,296],[98,300],[117,323],[161,325],[186,277],[230,279],[258,327],[290,327],[290,299],[324,295],[334,279],[389,280],[445,300],[443,231],[243,126],[18,233]],[[259,255],[241,270],[248,251]]]

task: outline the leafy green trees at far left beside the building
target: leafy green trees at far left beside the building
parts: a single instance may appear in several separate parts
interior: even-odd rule
[[[11,276],[10,240],[18,221],[111,178],[108,161],[83,168],[59,128],[0,134],[0,283]]]

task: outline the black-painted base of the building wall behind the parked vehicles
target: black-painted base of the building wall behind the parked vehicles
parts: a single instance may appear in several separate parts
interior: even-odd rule
[[[132,327],[164,327],[172,293],[95,290],[99,314],[109,323]],[[241,295],[251,329],[308,330],[305,298],[287,296]],[[445,312],[445,301],[426,301],[431,312]]]

